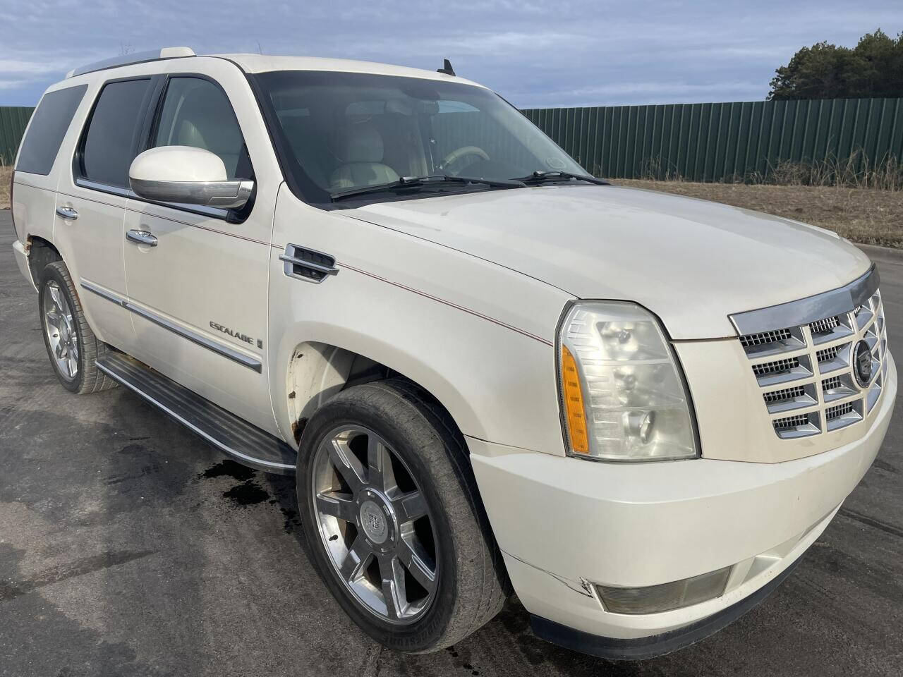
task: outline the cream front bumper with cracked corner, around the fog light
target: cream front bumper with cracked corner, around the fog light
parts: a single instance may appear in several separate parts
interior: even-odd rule
[[[468,438],[480,495],[521,602],[542,619],[538,626],[640,640],[628,643],[634,646],[644,638],[656,645],[658,635],[679,628],[688,630],[684,644],[702,638],[689,626],[777,580],[868,470],[897,394],[892,357],[888,367],[880,411],[860,439],[783,463],[592,463]],[[610,613],[592,585],[645,587],[727,566],[721,597],[656,614]],[[723,624],[709,625],[711,634]],[[670,642],[663,650],[679,646]],[[590,645],[583,650],[599,654]]]

